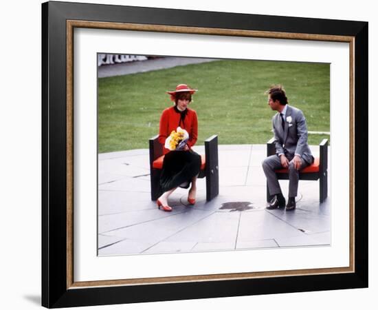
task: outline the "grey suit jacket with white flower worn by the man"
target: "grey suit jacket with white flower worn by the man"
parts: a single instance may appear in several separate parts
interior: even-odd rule
[[[287,105],[285,115],[285,131],[282,130],[280,113],[276,113],[273,118],[274,144],[276,154],[299,154],[304,161],[313,163],[313,156],[307,144],[307,125],[303,112],[296,107]]]

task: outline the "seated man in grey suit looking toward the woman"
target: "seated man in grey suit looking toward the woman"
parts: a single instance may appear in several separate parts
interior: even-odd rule
[[[313,163],[313,156],[307,144],[306,118],[301,110],[287,104],[287,96],[281,85],[272,86],[268,94],[268,105],[277,113],[272,118],[276,154],[263,161],[269,194],[273,196],[267,209],[285,207],[286,201],[274,170],[288,168],[289,199],[286,209],[291,211],[296,209],[299,171]]]

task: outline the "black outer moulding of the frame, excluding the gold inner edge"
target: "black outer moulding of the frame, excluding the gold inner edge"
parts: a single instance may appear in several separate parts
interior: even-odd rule
[[[67,19],[355,37],[355,272],[67,289]],[[367,103],[366,22],[87,3],[43,3],[42,305],[49,308],[77,307],[368,287]]]

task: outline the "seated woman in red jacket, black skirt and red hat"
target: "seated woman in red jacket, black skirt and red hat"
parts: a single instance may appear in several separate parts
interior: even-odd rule
[[[188,203],[194,205],[196,197],[196,181],[201,168],[201,156],[192,150],[192,146],[197,142],[198,121],[194,110],[188,108],[192,101],[193,90],[186,84],[179,84],[170,94],[170,99],[175,102],[173,107],[168,107],[163,111],[160,118],[159,143],[164,147],[166,138],[177,127],[181,127],[189,134],[188,141],[182,150],[170,151],[164,147],[164,161],[162,175],[160,177],[160,187],[162,196],[157,199],[157,206],[164,211],[172,211],[168,205],[168,197],[177,187],[189,188]]]

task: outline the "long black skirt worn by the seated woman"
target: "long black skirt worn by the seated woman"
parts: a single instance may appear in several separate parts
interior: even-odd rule
[[[188,188],[193,176],[199,174],[201,156],[189,151],[171,151],[164,156],[160,190],[168,192],[175,187]]]

